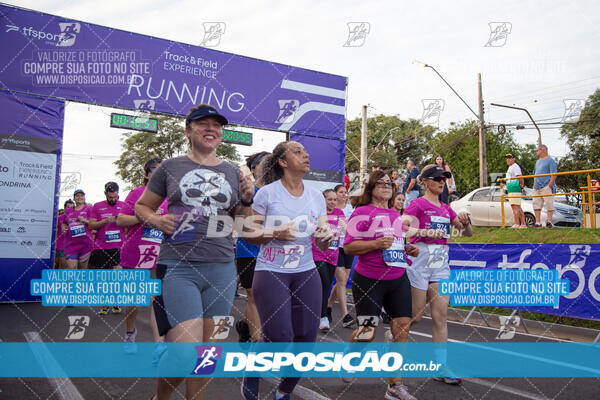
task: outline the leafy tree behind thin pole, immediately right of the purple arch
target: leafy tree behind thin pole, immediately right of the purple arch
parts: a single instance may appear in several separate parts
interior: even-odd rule
[[[360,133],[362,120],[346,121],[346,173],[360,169]],[[367,118],[367,168],[375,165],[384,170],[404,169],[413,158],[417,164],[430,157],[427,143],[435,128],[420,121],[400,119],[397,115],[376,115]]]

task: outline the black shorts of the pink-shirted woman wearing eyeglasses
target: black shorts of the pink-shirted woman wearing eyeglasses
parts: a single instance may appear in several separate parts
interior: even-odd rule
[[[383,281],[354,271],[352,297],[357,316],[379,316],[383,306],[391,318],[412,318],[410,281],[406,272],[400,278]]]

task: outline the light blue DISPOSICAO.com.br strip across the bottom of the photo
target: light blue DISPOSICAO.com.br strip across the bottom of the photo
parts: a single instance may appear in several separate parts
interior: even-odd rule
[[[600,376],[589,343],[167,343],[153,365],[155,345],[0,343],[0,377]]]

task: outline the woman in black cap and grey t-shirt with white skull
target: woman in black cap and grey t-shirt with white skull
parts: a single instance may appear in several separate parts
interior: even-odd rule
[[[252,213],[254,185],[217,157],[227,123],[212,106],[192,108],[185,124],[190,153],[164,161],[135,205],[140,221],[166,234],[158,264],[166,266],[162,298],[170,324],[168,342],[215,340],[213,317],[228,317],[233,304],[237,281],[229,217]],[[169,212],[157,215],[154,211],[165,198]],[[160,363],[189,363],[187,356],[167,351]],[[182,381],[159,378],[158,395],[168,398]],[[186,396],[204,398],[206,379],[185,382]]]

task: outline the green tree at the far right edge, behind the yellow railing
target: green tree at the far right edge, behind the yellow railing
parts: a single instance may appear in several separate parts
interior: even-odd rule
[[[565,123],[560,135],[567,140],[569,153],[560,159],[559,171],[600,168],[600,89],[587,98],[578,121]],[[556,184],[565,192],[577,192],[587,185],[587,176],[561,175]],[[576,197],[579,202],[580,196]]]

